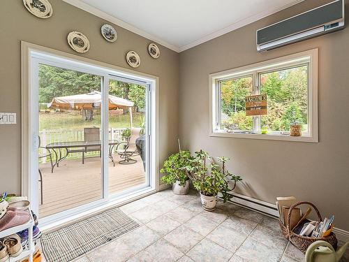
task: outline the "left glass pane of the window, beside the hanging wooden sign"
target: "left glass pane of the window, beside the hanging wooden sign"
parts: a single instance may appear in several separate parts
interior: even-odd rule
[[[251,95],[252,83],[252,76],[220,82],[221,129],[252,130],[252,117],[245,111],[245,97]]]

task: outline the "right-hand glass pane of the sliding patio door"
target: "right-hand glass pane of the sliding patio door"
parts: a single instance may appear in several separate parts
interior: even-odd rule
[[[146,87],[110,80],[109,95],[131,103],[109,107],[109,138],[117,142],[109,151],[114,161],[109,163],[109,194],[117,194],[147,183]]]

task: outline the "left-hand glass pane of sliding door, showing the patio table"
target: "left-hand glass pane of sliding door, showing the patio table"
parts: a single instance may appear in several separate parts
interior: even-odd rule
[[[102,198],[101,76],[40,64],[39,215]]]

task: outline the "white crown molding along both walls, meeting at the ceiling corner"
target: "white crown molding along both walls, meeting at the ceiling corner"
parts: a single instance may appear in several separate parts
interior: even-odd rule
[[[84,3],[80,0],[63,0],[63,1],[66,3],[69,3],[72,6],[80,8],[88,13],[91,13],[92,15],[96,15],[97,17],[101,17],[102,19],[107,20],[108,22],[112,22],[113,24],[117,24],[119,27],[127,29],[128,31],[131,31],[135,34],[143,36],[144,38],[147,38],[151,41],[154,41],[160,45],[163,45],[166,48],[169,48],[170,50],[173,50],[175,52],[182,52],[184,50],[188,50],[190,48],[193,48],[196,45],[200,45],[200,44],[205,43],[207,41],[210,41],[214,38],[217,38],[218,36],[222,36],[223,34],[227,34],[231,31],[239,29],[240,27],[244,27],[247,24],[251,24],[251,23],[258,21],[262,18],[265,18],[269,15],[277,13],[285,8],[289,8],[290,6],[294,6],[295,4],[301,3],[304,0],[295,0],[292,3],[288,3],[288,4],[283,5],[283,6],[274,6],[274,8],[270,8],[270,9],[268,9],[264,12],[260,12],[256,15],[251,15],[250,17],[247,17],[243,20],[240,20],[239,22],[235,22],[234,24],[231,24],[229,27],[219,29],[218,31],[215,31],[212,34],[208,34],[207,36],[204,36],[204,37],[198,39],[197,41],[193,41],[193,42],[188,43],[187,45],[183,45],[181,47],[178,47],[176,45],[171,45],[170,43],[163,41],[161,38],[153,36],[153,35],[147,33],[146,31],[143,31],[142,29],[139,29],[138,27],[133,26],[132,24],[128,24],[127,22],[124,22],[123,20],[120,20],[117,17],[109,15],[109,14],[103,12],[102,10],[99,10],[98,8],[94,8],[93,6],[90,6],[89,4]]]

